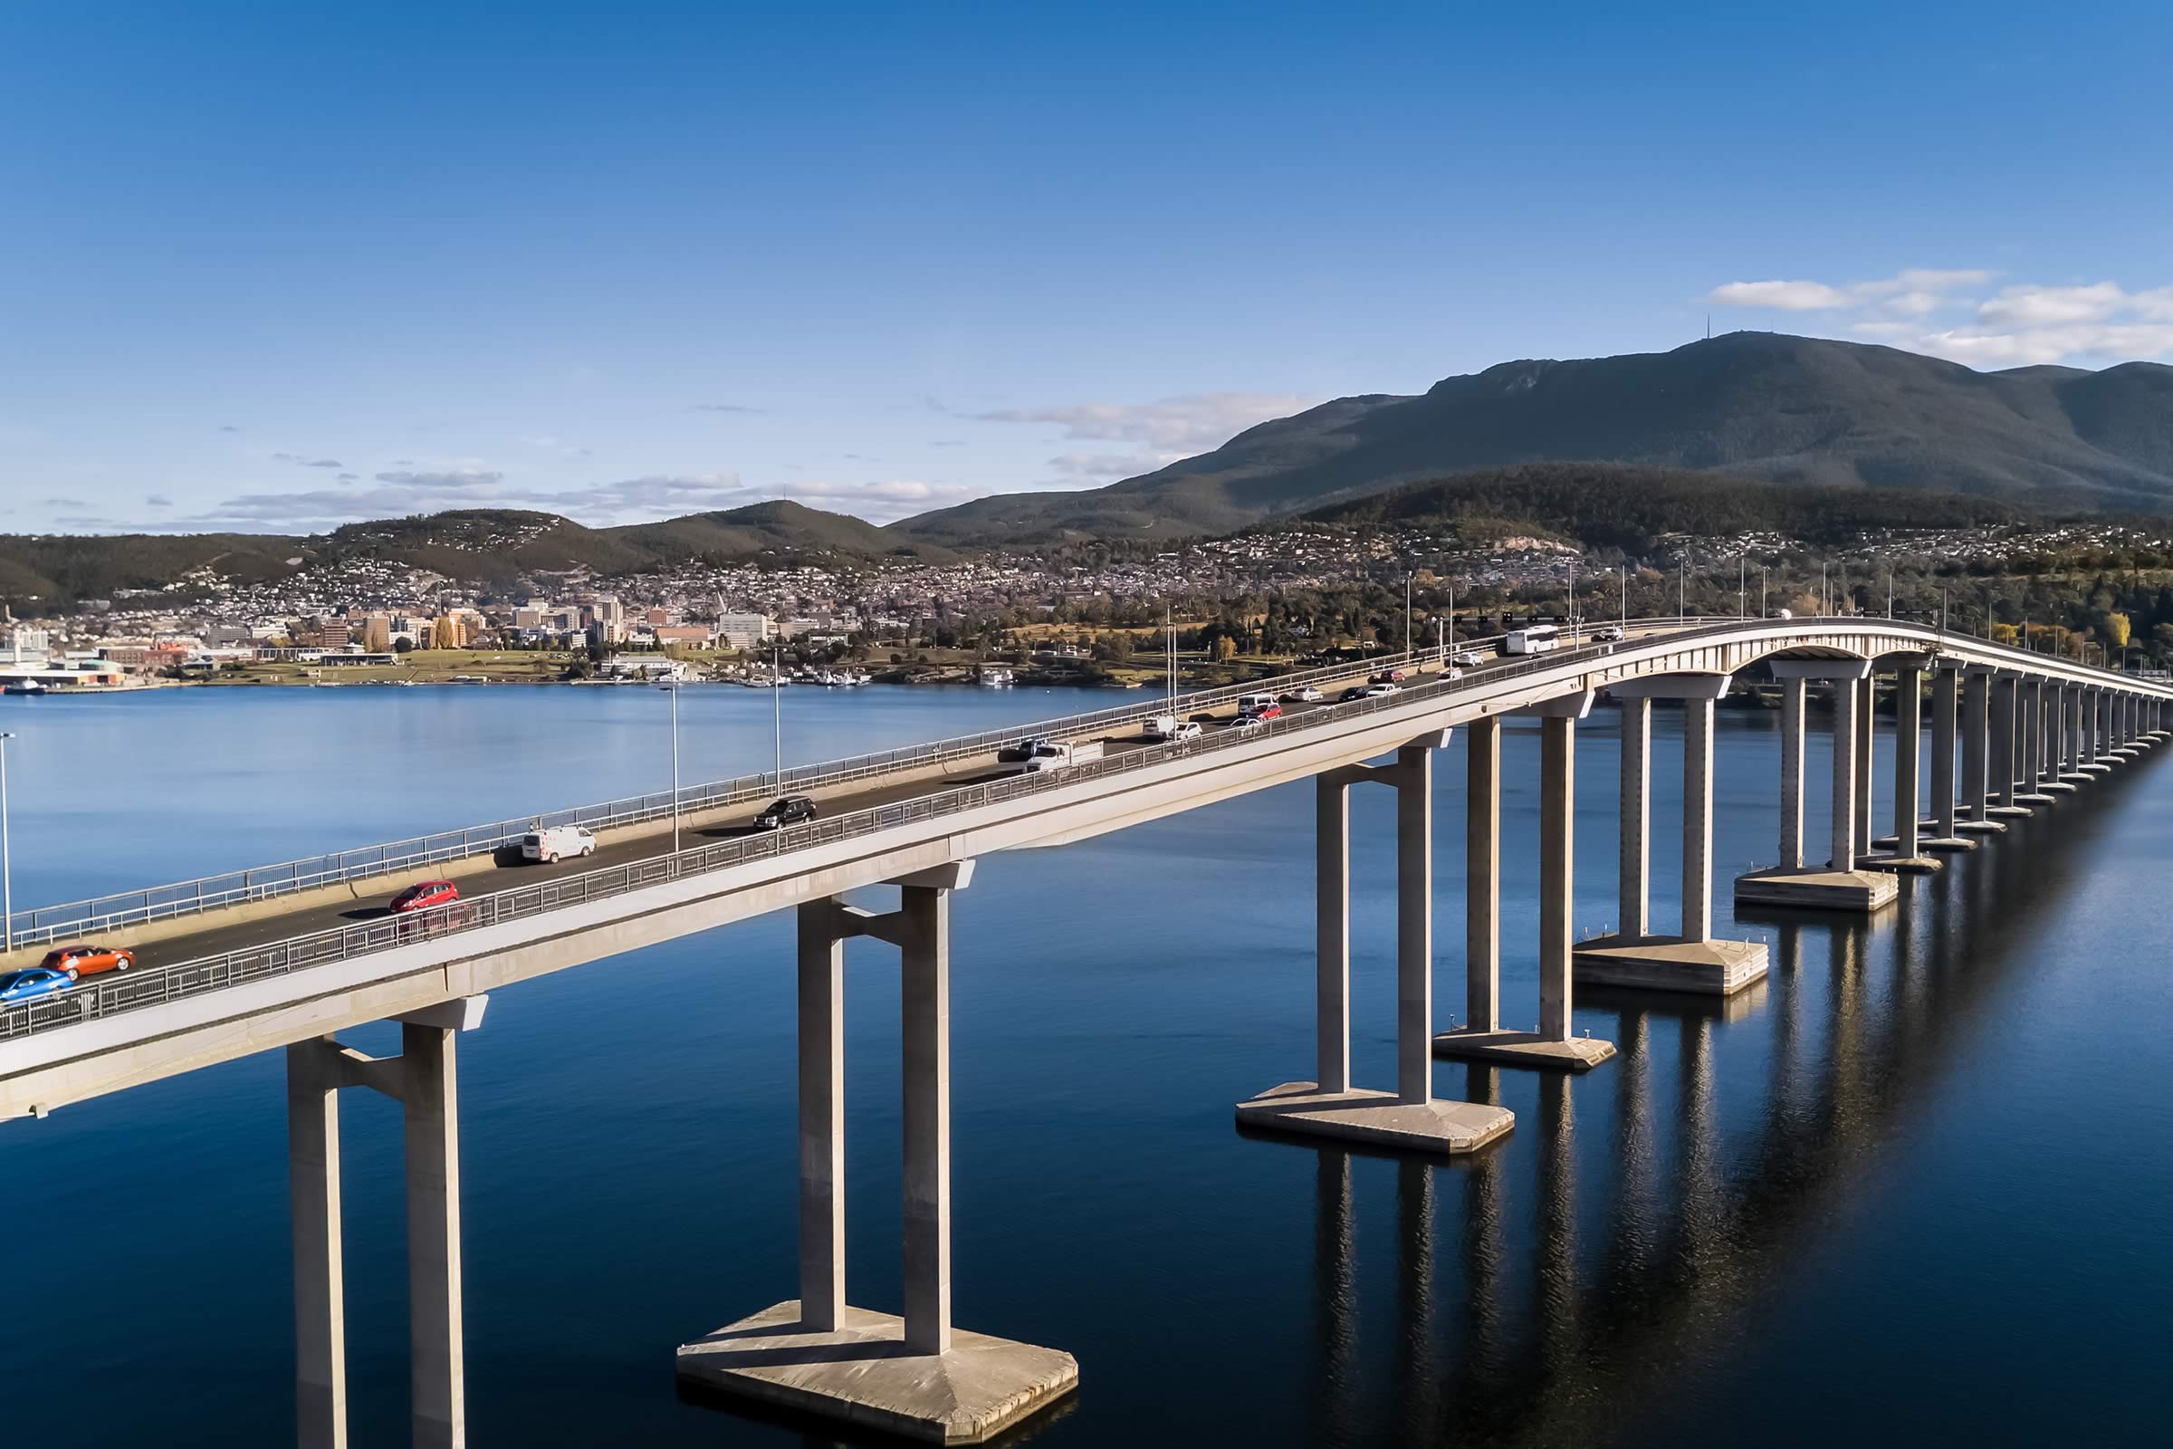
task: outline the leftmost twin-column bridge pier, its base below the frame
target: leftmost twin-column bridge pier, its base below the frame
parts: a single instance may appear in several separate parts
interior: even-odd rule
[[[296,1442],[348,1442],[346,1269],[339,1223],[339,1088],[400,1101],[406,1141],[409,1425],[417,1449],[467,1442],[461,1321],[461,1123],[454,1034],[489,997],[400,1017],[400,1056],[330,1036],[287,1047],[287,1173],[293,1212]]]

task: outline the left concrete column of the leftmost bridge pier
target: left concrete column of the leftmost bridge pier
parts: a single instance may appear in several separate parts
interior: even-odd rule
[[[300,1449],[348,1442],[348,1293],[339,1243],[339,1093],[324,1043],[287,1047],[287,1199],[293,1219],[293,1410]]]

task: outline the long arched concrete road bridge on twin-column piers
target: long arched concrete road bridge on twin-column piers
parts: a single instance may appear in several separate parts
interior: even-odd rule
[[[1434,665],[1434,667],[1428,667]],[[1654,621],[1628,639],[1465,673],[1428,652],[1276,680],[1330,697],[1202,739],[1136,736],[1152,702],[937,741],[782,776],[545,817],[600,830],[593,860],[506,867],[528,821],[343,852],[313,862],[152,886],[22,912],[15,965],[78,934],[133,943],[135,971],[0,1010],[0,1121],[43,1117],[239,1056],[285,1049],[296,1262],[296,1393],[302,1445],[346,1442],[339,1251],[339,1093],[402,1101],[411,1271],[411,1419],[417,1445],[465,1440],[461,1343],[456,1041],[487,995],[656,941],[793,908],[800,991],[800,1295],[680,1349],[684,1379],[941,1442],[974,1442],[1030,1416],[1078,1379],[1069,1353],[952,1327],[950,1314],[950,932],[974,860],[1080,841],[1249,791],[1315,780],[1317,1051],[1312,1075],[1241,1101],[1247,1130],[1345,1138],[1428,1156],[1471,1154],[1515,1127],[1491,1101],[1434,1095],[1436,1058],[1588,1071],[1615,1045],[1571,1032],[1580,982],[1719,999],[1769,969],[1764,947],[1712,936],[1712,721],[1730,680],[1764,665],[1780,686],[1775,858],[1732,882],[1743,906],[1877,912],[1910,873],[1995,841],[2010,819],[2162,743],[2164,684],[1923,623],[1838,619]],[[1354,673],[1415,671],[1395,693],[1336,700]],[[1871,821],[1875,682],[1893,678],[1895,817]],[[1930,691],[1925,691],[1930,676]],[[1804,839],[1808,693],[1832,697],[1832,832]],[[1258,689],[1258,684],[1243,686]],[[1606,691],[1623,710],[1619,930],[1571,923],[1575,726]],[[1228,715],[1241,689],[1176,702]],[[1649,919],[1651,702],[1684,708],[1684,906]],[[1923,713],[1932,758],[1921,760]],[[1541,728],[1538,999],[1506,1030],[1499,988],[1502,719]],[[1102,758],[1017,773],[1000,743],[1045,732],[1106,741]],[[1432,941],[1434,754],[1465,734],[1467,938],[1462,1025],[1436,1032]],[[1930,812],[1923,786],[1930,784]],[[1349,789],[1395,791],[1397,1080],[1349,1069]],[[754,832],[780,791],[821,819]],[[1823,858],[1821,858],[1823,856]],[[382,899],[417,875],[469,897],[406,917]],[[476,891],[476,886],[482,886]],[[897,886],[893,910],[843,897]],[[904,1032],[904,1312],[847,1303],[843,1280],[843,945],[900,952]],[[402,1023],[402,1051],[339,1043]]]

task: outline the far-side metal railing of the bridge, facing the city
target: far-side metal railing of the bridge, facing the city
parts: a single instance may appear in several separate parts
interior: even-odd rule
[[[1493,647],[1499,637],[1486,639],[1465,639],[1454,647]],[[1297,669],[1276,676],[1265,676],[1243,684],[1219,684],[1215,689],[1195,689],[1176,697],[1176,708],[1180,713],[1210,708],[1217,704],[1228,704],[1245,693],[1256,693],[1260,689],[1299,689],[1306,684],[1323,684],[1330,680],[1347,678],[1365,669],[1399,669],[1432,660],[1436,650],[1408,650],[1391,654],[1373,654],[1362,660],[1347,660],[1341,665],[1321,665],[1312,669]],[[1113,728],[1139,721],[1147,715],[1165,713],[1167,695],[1147,695],[1128,691],[1128,702],[1100,710],[1084,710],[1073,715],[1060,715],[1056,719],[1023,721],[1013,726],[1002,726],[995,730],[978,730],[974,734],[958,734],[952,739],[926,741],[915,745],[900,745],[895,749],[874,749],[867,754],[824,760],[817,765],[793,765],[782,771],[774,769],[737,776],[730,780],[713,780],[704,784],[680,786],[678,797],[671,791],[656,791],[648,795],[630,795],[624,799],[608,799],[591,806],[571,806],[561,810],[545,810],[541,815],[524,815],[517,819],[491,821],[485,826],[465,826],[461,830],[441,830],[435,834],[411,836],[404,841],[385,841],[378,845],[361,845],[354,849],[330,852],[324,856],[304,856],[300,860],[282,860],[278,865],[259,865],[239,871],[222,871],[217,875],[198,875],[196,880],[178,880],[159,886],[146,886],[137,891],[115,891],[111,895],[98,895],[80,902],[63,902],[56,906],[35,906],[30,910],[17,910],[13,921],[15,945],[48,945],[72,936],[96,936],[100,932],[120,930],[126,925],[143,925],[150,921],[165,921],[185,915],[198,915],[204,910],[219,910],[226,906],[239,906],[261,899],[274,899],[280,895],[296,895],[302,891],[315,891],[319,886],[337,886],[350,880],[369,880],[376,875],[391,875],[398,871],[419,871],[424,867],[445,865],[452,860],[469,860],[482,854],[498,854],[504,849],[515,849],[524,834],[530,830],[550,830],[554,826],[582,826],[589,830],[619,830],[628,826],[648,826],[656,821],[667,821],[674,815],[702,815],[708,810],[721,810],[734,804],[745,804],[754,799],[769,799],[784,793],[806,793],[824,791],[841,784],[854,784],[858,780],[869,780],[876,776],[887,776],[904,769],[937,769],[943,765],[954,765],[958,760],[969,760],[984,756],[1000,745],[1017,741],[1028,734],[1054,734],[1054,736],[1078,736],[1097,728]]]

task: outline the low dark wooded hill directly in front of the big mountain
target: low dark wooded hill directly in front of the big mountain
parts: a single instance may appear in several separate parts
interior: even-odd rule
[[[1691,474],[1625,463],[1519,463],[1417,482],[1345,504],[1256,524],[1254,534],[1295,526],[1452,526],[1465,539],[1552,534],[1584,547],[1645,556],[1669,534],[1780,532],[1808,543],[1851,543],[1877,528],[1973,528],[2010,524],[2014,508],[1969,493],[1819,487]]]

